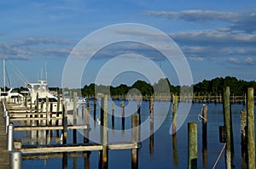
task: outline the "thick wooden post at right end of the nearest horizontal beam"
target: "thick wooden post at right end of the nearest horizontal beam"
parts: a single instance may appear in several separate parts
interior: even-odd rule
[[[139,142],[139,115],[131,115],[131,141],[132,143],[138,144]],[[137,148],[131,149],[131,168],[138,168],[138,152]]]

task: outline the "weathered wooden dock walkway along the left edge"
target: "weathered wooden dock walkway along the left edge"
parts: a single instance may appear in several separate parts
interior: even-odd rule
[[[1,168],[9,168],[9,150],[7,150],[7,134],[5,133],[5,121],[3,119],[2,102],[0,102],[0,143]]]

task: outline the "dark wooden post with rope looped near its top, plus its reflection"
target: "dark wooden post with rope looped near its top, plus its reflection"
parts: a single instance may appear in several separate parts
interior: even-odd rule
[[[202,107],[202,144],[203,144],[203,166],[207,167],[207,105]]]

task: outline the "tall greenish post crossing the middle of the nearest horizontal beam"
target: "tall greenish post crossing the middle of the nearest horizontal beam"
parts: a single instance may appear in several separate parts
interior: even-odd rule
[[[102,168],[108,168],[108,95],[104,96]]]

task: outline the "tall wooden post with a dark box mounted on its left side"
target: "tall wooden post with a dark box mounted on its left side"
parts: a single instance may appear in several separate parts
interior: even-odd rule
[[[226,127],[226,168],[230,169],[233,164],[233,131],[232,131],[232,116],[230,111],[230,87],[224,87],[224,127]]]

